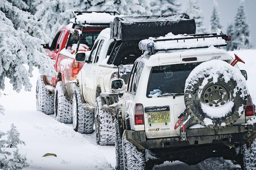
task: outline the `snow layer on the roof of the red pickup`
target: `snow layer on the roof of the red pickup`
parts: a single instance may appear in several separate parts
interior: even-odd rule
[[[77,16],[77,20],[75,22],[75,18],[72,18],[69,20],[71,23],[84,23],[86,21],[86,24],[92,24],[92,23],[110,23],[110,21],[113,21],[116,15],[110,15],[108,13],[85,13],[82,15]]]

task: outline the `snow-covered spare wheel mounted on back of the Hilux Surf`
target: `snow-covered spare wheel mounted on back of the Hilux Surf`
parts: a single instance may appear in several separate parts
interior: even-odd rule
[[[246,107],[245,78],[239,69],[222,60],[203,62],[194,68],[184,92],[188,113],[207,128],[232,125]]]

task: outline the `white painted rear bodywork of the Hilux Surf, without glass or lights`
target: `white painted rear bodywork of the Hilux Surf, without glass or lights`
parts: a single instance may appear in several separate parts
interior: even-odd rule
[[[189,63],[189,62],[204,62],[209,61],[211,59],[219,59],[225,60],[228,63],[233,61],[233,58],[227,53],[225,50],[214,49],[209,52],[207,49],[200,49],[193,51],[193,53],[189,52],[192,50],[186,50],[185,52],[174,52],[174,53],[156,53],[151,55],[150,57],[147,54],[144,54],[142,57],[137,59],[136,62],[144,62],[144,68],[142,70],[140,80],[138,83],[136,94],[133,95],[131,92],[126,92],[123,95],[121,102],[122,116],[124,118],[124,114],[129,114],[131,129],[145,130],[147,138],[159,138],[159,137],[173,137],[180,136],[180,128],[174,129],[176,122],[178,121],[178,116],[184,111],[185,103],[184,96],[166,96],[166,97],[156,97],[156,98],[148,98],[147,94],[147,86],[149,81],[149,75],[152,69],[152,66],[160,66],[160,65],[171,65],[171,64],[181,64],[181,63]],[[182,61],[183,58],[189,57],[197,57],[197,61]],[[238,68],[237,65],[235,67]],[[239,69],[239,68],[238,68]],[[146,87],[146,88],[145,88]],[[249,94],[249,92],[248,92]],[[134,109],[135,104],[142,104],[144,111],[144,125],[134,125]],[[158,107],[158,106],[169,106],[170,108],[170,122],[167,123],[153,123],[148,124],[147,122],[147,113],[145,113],[145,107]],[[240,125],[246,123],[246,121],[250,117],[245,118],[245,113],[240,117],[240,119],[235,122],[233,125]],[[192,122],[191,125],[196,124],[195,121]],[[158,129],[157,129],[158,128]],[[157,130],[156,130],[157,129]]]

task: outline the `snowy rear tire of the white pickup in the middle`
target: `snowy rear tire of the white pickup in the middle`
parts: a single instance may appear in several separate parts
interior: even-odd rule
[[[100,96],[96,98],[94,114],[97,144],[114,145],[115,124],[112,115],[103,110]]]

